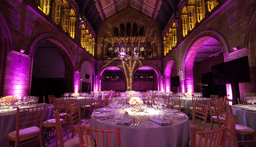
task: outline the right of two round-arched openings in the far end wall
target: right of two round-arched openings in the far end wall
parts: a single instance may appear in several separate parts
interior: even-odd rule
[[[133,74],[134,91],[158,91],[157,73],[149,66],[138,68]]]

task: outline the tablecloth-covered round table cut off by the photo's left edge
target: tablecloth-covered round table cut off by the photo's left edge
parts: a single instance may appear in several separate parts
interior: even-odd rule
[[[37,105],[44,105],[46,103],[37,104]],[[16,114],[17,114],[17,108],[11,109],[9,113],[7,113],[8,108],[5,107],[5,112],[0,113],[0,146],[6,147],[7,145],[7,134],[11,131],[16,130]],[[24,106],[21,106],[21,108],[24,108]],[[2,110],[1,110],[2,111]],[[44,115],[44,121],[52,119],[53,118],[53,105],[46,104],[45,108],[45,115]],[[43,142],[46,141],[48,138],[48,134],[42,133],[42,139]],[[15,142],[12,142],[12,146],[15,145]],[[34,142],[34,146],[36,145],[36,141]],[[30,143],[23,144],[19,147],[28,147],[31,146]]]

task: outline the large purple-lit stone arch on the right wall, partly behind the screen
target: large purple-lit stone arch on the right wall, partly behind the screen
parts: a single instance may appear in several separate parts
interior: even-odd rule
[[[214,38],[220,43],[223,50],[224,62],[227,61],[228,45],[225,39],[218,32],[212,30],[199,33],[189,43],[182,61],[182,71],[184,74],[184,79],[181,80],[184,80],[184,83],[181,83],[181,85],[184,84],[185,92],[193,92],[193,64],[195,55],[197,54],[197,51],[199,50],[201,45],[210,38]]]

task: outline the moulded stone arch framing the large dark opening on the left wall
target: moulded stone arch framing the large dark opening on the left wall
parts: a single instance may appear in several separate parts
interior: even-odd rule
[[[33,62],[34,53],[35,53],[37,46],[45,40],[50,41],[61,52],[63,59],[64,59],[64,63],[65,63],[66,91],[73,92],[73,90],[74,90],[74,87],[73,87],[74,72],[76,69],[75,68],[75,60],[74,60],[74,56],[71,52],[71,49],[69,48],[67,43],[62,38],[60,38],[59,36],[57,36],[55,34],[50,34],[50,33],[45,33],[45,34],[41,34],[41,35],[37,36],[34,39],[34,41],[31,43],[30,48],[29,48],[28,55],[31,57],[31,63]],[[31,70],[32,70],[32,68],[31,68]],[[32,72],[32,71],[30,71],[30,72]],[[70,74],[67,74],[67,73],[70,73]],[[30,77],[30,78],[32,78],[32,77]]]

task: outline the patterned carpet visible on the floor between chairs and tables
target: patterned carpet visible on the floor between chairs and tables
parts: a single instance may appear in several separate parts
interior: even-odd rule
[[[192,119],[190,119],[189,122],[192,124]],[[85,119],[82,119],[82,124],[86,124],[86,123],[90,123],[90,116],[85,116]],[[195,121],[195,125],[198,125],[201,128],[203,127],[203,123],[201,123],[199,121]],[[210,125],[211,125],[210,120],[207,120],[205,130],[210,130]],[[214,126],[217,126],[217,124],[214,124]],[[213,127],[213,129],[216,129],[216,127]],[[68,134],[69,134],[69,138],[71,139],[71,130],[70,130],[69,125],[68,125]],[[64,140],[64,143],[65,143],[68,140],[65,130],[63,130],[63,136],[64,136],[63,140]],[[78,137],[78,134],[76,134],[74,136],[74,138],[76,138],[76,137]],[[52,138],[49,137],[49,140],[44,142],[44,147],[56,147],[55,137],[52,137]],[[59,141],[58,141],[58,147],[60,147],[59,146]],[[232,147],[235,147],[235,145],[232,145]]]

